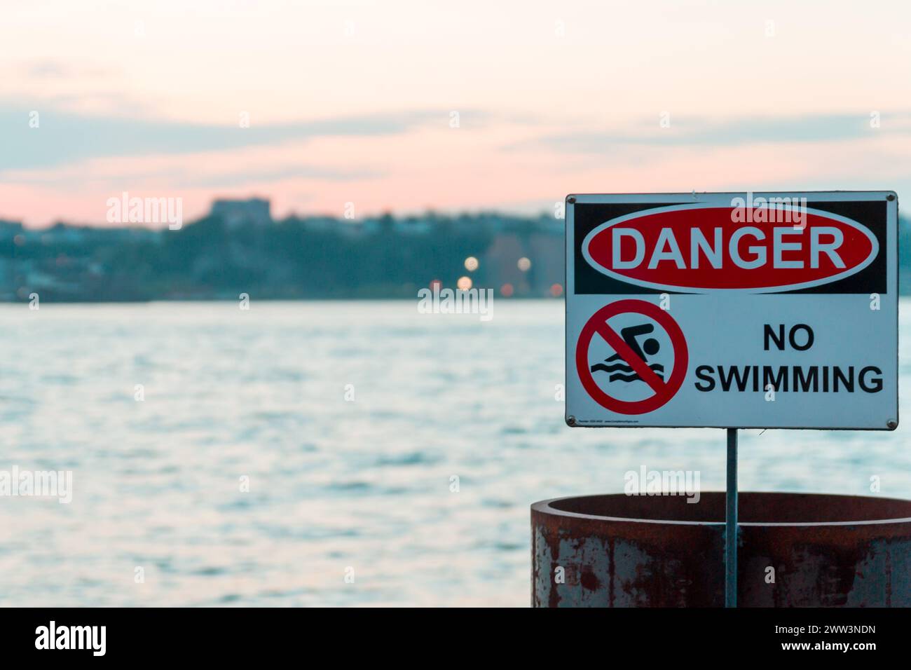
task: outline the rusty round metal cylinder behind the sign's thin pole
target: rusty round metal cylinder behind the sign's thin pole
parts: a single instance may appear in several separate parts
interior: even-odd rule
[[[536,502],[532,604],[723,607],[725,498]],[[738,607],[911,607],[911,500],[745,492],[738,532]]]

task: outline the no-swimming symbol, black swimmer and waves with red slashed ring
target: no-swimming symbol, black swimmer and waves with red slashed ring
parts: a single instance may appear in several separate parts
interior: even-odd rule
[[[649,366],[646,362],[645,354],[652,354],[658,350],[656,340],[651,338],[646,340],[643,351],[635,336],[618,335],[617,331],[608,324],[609,319],[619,314],[642,314],[664,329],[673,347],[674,364],[669,376],[663,374],[661,366]],[[624,330],[630,330],[633,335],[639,335],[650,333],[653,330],[653,326],[644,325]],[[621,400],[610,396],[599,387],[591,375],[592,368],[589,367],[589,346],[596,333],[603,337],[604,341],[616,352],[615,356],[611,356],[608,359],[611,362],[615,361],[616,365],[599,365],[594,366],[595,369],[604,369],[606,371],[614,371],[616,369],[629,370],[630,376],[622,376],[616,373],[610,376],[610,379],[619,378],[625,381],[633,378],[640,379],[654,392],[652,396],[643,400]],[[582,387],[601,407],[606,407],[619,414],[644,414],[667,403],[680,390],[683,384],[683,379],[687,372],[688,358],[686,338],[683,336],[680,325],[677,325],[677,322],[670,317],[670,314],[660,309],[658,305],[644,300],[618,300],[602,307],[583,326],[576,345],[576,368]],[[659,375],[658,372],[662,374]]]

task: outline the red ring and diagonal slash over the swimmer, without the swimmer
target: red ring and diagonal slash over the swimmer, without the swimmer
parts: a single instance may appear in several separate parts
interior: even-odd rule
[[[648,316],[664,328],[670,336],[670,344],[674,348],[674,367],[667,382],[662,382],[650,370],[649,366],[639,356],[636,356],[630,347],[608,325],[609,318],[627,312]],[[591,338],[595,333],[604,337],[626,364],[636,370],[642,380],[655,391],[654,396],[647,397],[644,400],[619,400],[601,390],[589,370],[589,345],[591,345]],[[582,332],[578,335],[576,370],[578,378],[582,382],[582,387],[589,392],[589,396],[601,407],[606,407],[618,414],[644,414],[664,405],[671,397],[674,397],[674,394],[683,385],[688,363],[689,353],[687,351],[686,338],[683,336],[680,325],[677,325],[677,322],[670,317],[670,314],[662,310],[657,304],[647,303],[644,300],[618,300],[616,303],[601,307],[595,314],[592,314],[586,325],[582,326]]]

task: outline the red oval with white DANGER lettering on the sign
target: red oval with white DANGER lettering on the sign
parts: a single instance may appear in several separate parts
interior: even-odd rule
[[[842,279],[879,251],[858,222],[809,209],[797,216],[769,207],[662,207],[603,223],[583,253],[600,272],[640,285],[781,291]]]

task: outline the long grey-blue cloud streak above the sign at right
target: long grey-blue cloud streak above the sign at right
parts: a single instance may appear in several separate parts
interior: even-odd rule
[[[870,113],[823,114],[789,117],[704,119],[670,116],[670,126],[635,123],[628,130],[590,129],[546,135],[513,149],[547,148],[566,153],[603,155],[623,146],[734,147],[748,144],[829,142],[876,137],[879,133],[911,135],[911,113],[883,114],[879,128],[871,127]]]

